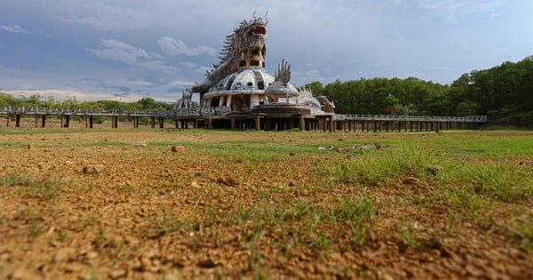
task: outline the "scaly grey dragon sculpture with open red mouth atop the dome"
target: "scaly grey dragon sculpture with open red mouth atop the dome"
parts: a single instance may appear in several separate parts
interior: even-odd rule
[[[267,54],[267,14],[265,19],[255,17],[252,20],[243,20],[234,29],[234,32],[226,36],[225,44],[220,51],[219,64],[213,65],[211,71],[207,71],[203,82],[187,87],[183,92],[184,99],[190,99],[193,93],[200,93],[200,102],[203,94],[208,92],[213,84],[229,74],[235,73],[239,68],[262,67],[265,68],[265,55]],[[187,100],[179,100],[175,108],[183,108]]]

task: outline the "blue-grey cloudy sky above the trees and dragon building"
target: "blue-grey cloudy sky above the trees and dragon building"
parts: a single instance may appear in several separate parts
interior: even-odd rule
[[[175,101],[267,15],[266,70],[290,83],[418,77],[451,84],[533,54],[531,0],[17,0],[0,4],[0,91]]]

